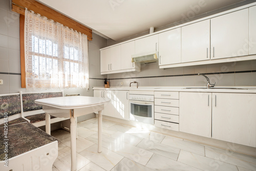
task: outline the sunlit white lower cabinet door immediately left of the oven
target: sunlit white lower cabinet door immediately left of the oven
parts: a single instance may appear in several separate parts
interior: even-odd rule
[[[115,117],[129,119],[129,91],[115,91]]]

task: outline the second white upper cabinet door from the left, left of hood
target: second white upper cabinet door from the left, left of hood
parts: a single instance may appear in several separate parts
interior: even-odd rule
[[[121,70],[121,46],[114,46],[110,48],[110,70]]]

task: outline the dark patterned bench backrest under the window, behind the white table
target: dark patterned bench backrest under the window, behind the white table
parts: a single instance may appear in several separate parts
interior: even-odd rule
[[[42,109],[42,106],[35,103],[37,99],[51,98],[51,97],[62,97],[62,92],[51,92],[51,93],[28,93],[22,95],[23,111],[34,111]]]

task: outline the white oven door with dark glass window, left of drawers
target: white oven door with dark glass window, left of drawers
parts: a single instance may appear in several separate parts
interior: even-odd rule
[[[154,102],[129,101],[130,120],[154,124]]]

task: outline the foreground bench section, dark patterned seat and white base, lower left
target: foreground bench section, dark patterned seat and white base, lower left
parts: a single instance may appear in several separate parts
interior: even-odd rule
[[[8,152],[5,153],[5,139],[8,139]],[[5,156],[8,154],[8,167]],[[7,138],[4,127],[0,127],[0,170],[52,170],[58,156],[58,141],[31,123],[8,125]],[[44,160],[42,160],[44,159]]]

